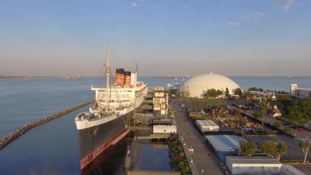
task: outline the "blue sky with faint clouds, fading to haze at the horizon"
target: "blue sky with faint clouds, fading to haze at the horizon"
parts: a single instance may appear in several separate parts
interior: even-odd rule
[[[0,0],[0,75],[311,75],[308,0]]]

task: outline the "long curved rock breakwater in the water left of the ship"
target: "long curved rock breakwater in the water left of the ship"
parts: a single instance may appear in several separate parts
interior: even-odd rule
[[[50,115],[48,117],[39,119],[37,121],[34,121],[32,123],[28,123],[24,126],[21,126],[20,128],[18,128],[17,130],[15,130],[14,132],[10,133],[7,137],[5,137],[4,139],[0,140],[0,150],[3,149],[4,147],[6,147],[9,143],[11,143],[13,140],[17,139],[19,136],[23,135],[24,133],[28,132],[28,130],[30,130],[33,127],[39,126],[40,124],[46,123],[48,121],[51,121],[53,119],[56,119],[60,116],[63,116],[65,114],[68,114],[70,112],[73,112],[75,110],[78,110],[79,108],[86,106],[88,104],[94,103],[95,100],[90,100],[87,101],[85,103],[79,104],[77,106],[71,107],[67,110],[58,112],[56,114]]]

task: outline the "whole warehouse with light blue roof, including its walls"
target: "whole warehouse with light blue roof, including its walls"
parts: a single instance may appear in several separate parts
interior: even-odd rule
[[[239,142],[247,141],[246,139],[235,135],[212,135],[205,137],[223,162],[226,161],[226,156],[237,156]]]

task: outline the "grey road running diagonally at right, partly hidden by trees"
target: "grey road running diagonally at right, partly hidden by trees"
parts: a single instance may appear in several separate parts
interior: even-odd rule
[[[235,102],[236,102],[236,100],[226,100],[226,103],[227,103],[229,109],[231,109],[231,110],[234,110],[235,108],[237,108],[237,107],[232,106],[232,103],[235,103]],[[246,114],[248,116],[252,116],[254,112],[255,111],[247,110],[247,111],[242,111],[241,113],[242,114]],[[259,119],[259,120],[261,121],[261,119]],[[268,115],[265,114],[265,117],[264,117],[264,122],[265,123],[270,123],[271,125],[273,125],[273,123],[276,122],[276,121],[279,121],[279,120],[277,120],[276,118],[273,118],[273,117],[269,117]],[[290,125],[289,124],[288,125],[281,124],[281,127],[279,127],[279,128],[283,130],[285,127],[290,127]],[[309,132],[307,130],[305,130],[304,132],[300,132],[300,131],[297,132],[296,129],[294,129],[294,128],[291,128],[291,129],[292,129],[292,133],[291,133],[292,135],[295,135],[297,133],[297,139],[298,140],[301,140],[301,141],[308,140],[308,141],[310,141],[311,132]]]

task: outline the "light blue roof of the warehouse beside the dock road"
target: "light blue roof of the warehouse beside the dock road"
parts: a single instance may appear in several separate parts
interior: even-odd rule
[[[239,141],[246,139],[235,135],[213,135],[205,136],[216,151],[233,151],[239,149]]]

